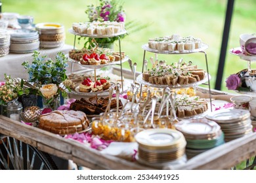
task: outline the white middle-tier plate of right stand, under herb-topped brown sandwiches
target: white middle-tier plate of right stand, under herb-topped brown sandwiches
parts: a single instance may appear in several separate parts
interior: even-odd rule
[[[203,80],[200,80],[198,82],[193,82],[193,83],[190,83],[190,84],[182,84],[182,85],[177,84],[177,85],[168,86],[168,85],[163,85],[163,84],[152,84],[150,82],[146,82],[145,80],[143,80],[142,75],[143,74],[140,74],[139,76],[137,76],[137,82],[139,82],[139,84],[145,84],[145,85],[148,85],[148,86],[152,86],[154,88],[166,88],[166,87],[169,87],[169,88],[190,88],[190,87],[198,86],[198,85],[203,84],[203,83],[208,81],[208,74],[205,73],[205,76],[204,76]],[[211,79],[210,75],[209,75],[209,79]]]

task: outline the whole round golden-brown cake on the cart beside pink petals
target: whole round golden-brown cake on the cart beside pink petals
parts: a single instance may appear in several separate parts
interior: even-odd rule
[[[88,126],[86,114],[75,110],[54,110],[39,119],[39,128],[59,135],[79,133]]]

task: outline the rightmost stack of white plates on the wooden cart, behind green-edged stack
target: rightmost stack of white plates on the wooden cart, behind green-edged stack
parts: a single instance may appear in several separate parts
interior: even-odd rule
[[[250,117],[249,110],[244,109],[217,110],[206,116],[207,119],[221,125],[226,142],[253,133]]]

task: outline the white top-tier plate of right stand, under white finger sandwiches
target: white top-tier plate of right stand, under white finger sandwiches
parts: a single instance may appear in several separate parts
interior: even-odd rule
[[[168,51],[168,50],[155,50],[152,49],[148,46],[148,44],[144,44],[142,45],[142,49],[148,51],[148,52],[152,52],[152,53],[156,53],[156,54],[190,54],[190,53],[196,53],[196,52],[202,52],[203,50],[206,50],[208,48],[207,44],[202,43],[200,48],[196,48],[194,50],[184,50],[183,52],[179,52],[178,50],[175,51]]]

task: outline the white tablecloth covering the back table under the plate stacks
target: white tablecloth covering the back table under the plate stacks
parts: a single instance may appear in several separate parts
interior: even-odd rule
[[[41,53],[41,56],[46,55],[47,58],[54,59],[57,52],[64,52],[65,54],[68,54],[70,50],[73,49],[73,46],[64,44],[62,47],[58,48],[52,48],[52,49],[44,49],[39,50]],[[28,73],[26,69],[22,66],[22,63],[24,61],[32,62],[32,55],[33,53],[29,54],[12,54],[10,53],[7,56],[3,56],[0,58],[0,82],[4,81],[4,74],[11,75],[12,78],[23,78],[28,79]],[[71,71],[71,63],[68,63],[67,74]],[[84,68],[77,67],[79,65],[74,64],[74,71],[81,70]]]

